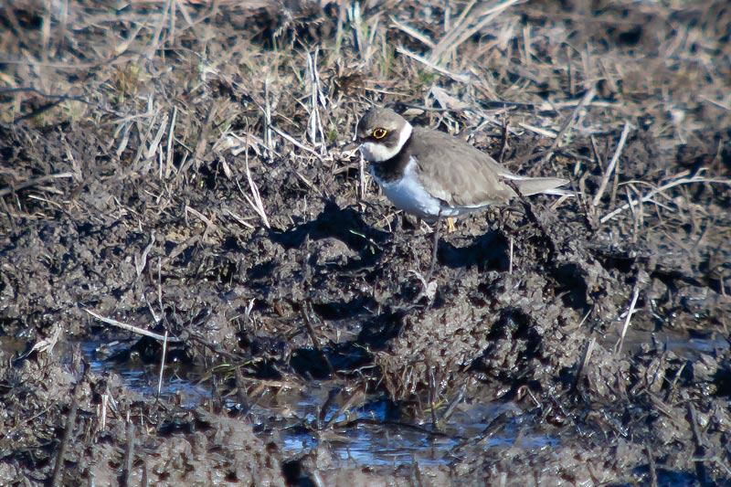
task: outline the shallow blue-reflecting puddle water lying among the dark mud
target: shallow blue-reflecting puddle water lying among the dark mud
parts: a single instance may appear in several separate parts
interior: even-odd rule
[[[606,339],[612,340],[610,337]],[[652,336],[652,333],[632,332],[625,338],[624,350],[637,350],[641,344],[652,343],[652,339],[688,360],[728,347],[726,340],[714,337],[683,339],[668,334],[656,333]],[[81,344],[90,360],[92,372],[117,372],[132,390],[148,397],[157,394],[158,366],[132,367],[130,361],[118,363],[104,358],[108,356],[109,350],[100,358],[100,345],[99,342]],[[126,346],[128,344],[117,344],[111,351],[115,347],[122,349]],[[104,347],[109,348],[106,345]],[[526,415],[521,416],[524,411],[515,410],[517,408],[513,405],[501,402],[460,405],[450,419],[441,425],[442,430],[435,434],[429,423],[420,424],[405,418],[385,398],[373,396],[362,407],[350,408],[334,418],[334,427],[318,429],[318,418],[328,421],[338,412],[337,401],[324,415],[320,412],[335,386],[338,384],[334,382],[313,382],[307,385],[306,390],[292,387],[276,394],[267,394],[242,416],[252,421],[260,436],[280,439],[287,456],[296,458],[326,445],[335,457],[363,467],[449,463],[459,458],[459,453],[455,454],[455,451],[459,451],[462,442],[479,438],[493,418],[501,413],[507,413],[509,417],[512,412],[517,414],[508,420],[498,434],[477,441],[482,441],[483,450],[495,447],[538,450],[556,446],[559,441],[556,437],[535,433],[524,419],[522,422],[517,419],[525,418]],[[161,396],[177,396],[182,405],[193,408],[207,401],[211,397],[211,390],[205,384],[166,374]],[[227,406],[234,410],[242,409],[233,400],[228,400]],[[683,483],[666,480],[668,485]]]

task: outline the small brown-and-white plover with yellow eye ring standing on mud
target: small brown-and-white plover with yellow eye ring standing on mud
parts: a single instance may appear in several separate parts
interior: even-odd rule
[[[523,196],[573,195],[560,187],[567,185],[567,179],[515,175],[470,143],[445,132],[412,126],[387,108],[365,113],[358,122],[355,141],[391,203],[428,223],[507,204],[517,196],[507,181],[512,181]],[[436,262],[438,228],[431,270]]]

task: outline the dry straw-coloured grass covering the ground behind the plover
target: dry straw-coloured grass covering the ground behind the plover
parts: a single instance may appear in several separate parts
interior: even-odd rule
[[[278,168],[293,168],[315,194],[367,199],[373,185],[363,167],[352,184],[344,178],[353,166],[339,147],[367,106],[395,103],[418,123],[493,153],[499,145],[515,171],[570,176],[595,231],[673,241],[699,261],[731,251],[723,2],[59,5],[2,11],[0,120],[58,130],[69,147],[50,172],[0,169],[10,227],[78,206],[47,196],[97,181],[114,188],[107,217],[135,216],[134,227],[184,207],[193,218],[182,249],[198,231],[220,244],[285,229],[291,216],[272,212],[266,196]],[[74,156],[70,132],[99,141],[96,161]],[[181,200],[184,189],[214,188],[219,174],[238,188],[236,203]],[[132,204],[127,180],[143,181],[152,199]],[[37,191],[23,200],[24,188]],[[714,272],[725,294],[729,272]]]

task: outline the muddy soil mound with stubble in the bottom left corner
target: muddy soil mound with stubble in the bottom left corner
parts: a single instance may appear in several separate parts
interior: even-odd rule
[[[5,485],[44,479],[68,485],[284,483],[279,447],[257,438],[249,422],[156,402],[120,376],[86,375],[48,359],[48,352],[5,367],[0,377]]]

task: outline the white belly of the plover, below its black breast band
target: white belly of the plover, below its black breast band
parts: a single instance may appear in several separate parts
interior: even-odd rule
[[[429,195],[429,192],[418,181],[416,165],[414,160],[411,159],[404,172],[404,177],[391,183],[378,179],[371,170],[371,175],[373,175],[376,183],[381,186],[384,195],[394,206],[429,222],[433,222],[440,217],[457,217],[463,213],[479,209],[478,207],[444,205],[440,199]]]

